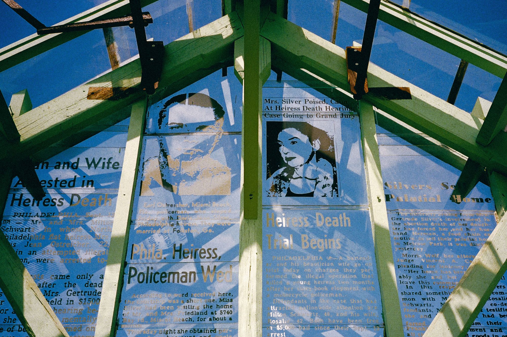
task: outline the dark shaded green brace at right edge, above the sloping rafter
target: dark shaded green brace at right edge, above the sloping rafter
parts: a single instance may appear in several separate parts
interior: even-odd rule
[[[487,146],[491,141],[503,132],[507,124],[507,76],[500,83],[493,103],[484,119],[481,130],[477,135],[477,143]]]

